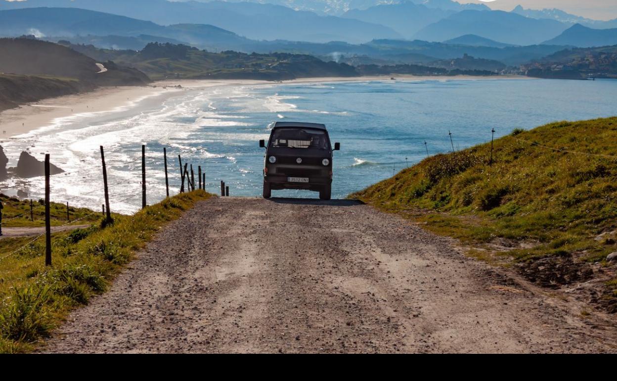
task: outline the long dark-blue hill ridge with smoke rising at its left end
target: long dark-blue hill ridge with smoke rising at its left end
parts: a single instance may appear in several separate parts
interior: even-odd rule
[[[33,28],[36,25],[40,29]],[[439,59],[456,59],[464,54],[478,59],[520,65],[567,46],[505,46],[479,36],[463,36],[449,43],[377,39],[364,44],[345,42],[256,41],[212,25],[175,24],[167,27],[143,20],[72,8],[0,10],[0,35],[38,35],[50,41],[94,44],[100,48],[141,50],[147,43],[184,43],[209,51],[288,52],[311,54],[337,61],[373,63],[390,61],[426,64]],[[358,57],[358,59],[351,59]],[[366,59],[362,57],[372,57]],[[351,59],[351,60],[350,60]]]

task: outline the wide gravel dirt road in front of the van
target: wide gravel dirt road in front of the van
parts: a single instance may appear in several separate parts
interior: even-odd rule
[[[159,234],[49,352],[616,352],[453,241],[353,201],[216,198]]]

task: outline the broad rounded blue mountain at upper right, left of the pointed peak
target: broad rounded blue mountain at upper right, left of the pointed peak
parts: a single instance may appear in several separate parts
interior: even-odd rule
[[[539,44],[566,30],[568,25],[556,20],[529,19],[500,10],[463,10],[432,23],[415,34],[426,41],[446,41],[462,35],[478,35],[515,45]]]

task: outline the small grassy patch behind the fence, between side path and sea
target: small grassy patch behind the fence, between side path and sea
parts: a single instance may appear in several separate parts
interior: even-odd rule
[[[2,227],[41,227],[45,226],[45,203],[44,200],[33,200],[32,217],[30,219],[30,200],[20,200],[0,195],[0,201],[4,206],[2,209]],[[96,222],[101,217],[101,213],[92,214],[90,209],[76,208],[68,205],[69,222],[67,220],[67,205],[51,203],[49,205],[51,225],[59,226],[65,224],[88,225]],[[77,220],[77,221],[76,221]],[[1,244],[0,244],[1,245]]]

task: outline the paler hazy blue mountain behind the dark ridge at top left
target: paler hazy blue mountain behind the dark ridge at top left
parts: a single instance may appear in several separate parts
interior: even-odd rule
[[[68,7],[149,20],[160,25],[209,24],[255,40],[362,43],[373,38],[403,38],[391,28],[360,20],[297,12],[273,4],[250,2],[172,2],[165,0],[28,0],[0,1],[0,9]],[[111,25],[110,25],[111,26]],[[39,28],[31,25],[31,28]]]

